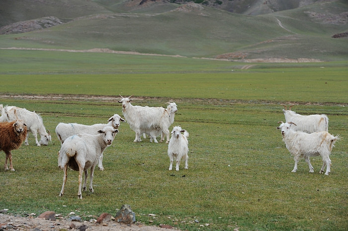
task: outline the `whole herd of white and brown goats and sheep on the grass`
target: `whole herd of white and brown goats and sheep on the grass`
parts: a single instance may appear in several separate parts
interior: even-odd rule
[[[120,95],[121,96],[121,95]],[[161,135],[160,142],[167,137],[168,156],[170,158],[169,170],[173,168],[176,161],[175,170],[179,170],[179,163],[185,161],[184,168],[188,168],[188,141],[189,136],[186,130],[179,126],[173,127],[170,138],[169,127],[174,123],[177,106],[174,102],[167,103],[167,108],[133,106],[131,96],[122,97],[118,101],[122,103],[122,113],[125,119],[118,114],[114,114],[108,119],[108,123],[83,125],[77,123],[59,123],[56,126],[56,135],[61,142],[61,149],[58,152],[58,166],[64,170],[63,186],[60,196],[64,194],[64,187],[67,180],[67,170],[70,167],[79,171],[79,191],[78,197],[82,199],[82,189],[87,190],[87,170],[90,169],[89,191],[93,192],[92,180],[94,168],[103,170],[102,159],[104,150],[110,146],[118,133],[121,122],[126,122],[135,132],[134,142],[141,142],[141,136],[150,137],[150,142],[158,143],[157,137]],[[336,141],[340,136],[333,136],[328,133],[329,119],[326,115],[300,115],[291,111],[291,105],[287,108],[283,105],[285,123],[281,123],[277,129],[281,130],[282,140],[286,148],[294,156],[295,166],[292,172],[297,171],[297,163],[300,158],[304,158],[308,163],[309,172],[314,172],[309,157],[320,155],[323,166],[320,173],[325,175],[330,173],[331,159],[330,154]],[[31,132],[35,137],[37,146],[48,145],[52,140],[50,131],[43,125],[42,118],[37,113],[15,106],[4,106],[0,104],[0,151],[5,154],[5,170],[14,171],[12,165],[11,150],[18,149],[21,144],[28,144],[28,134]],[[40,141],[37,139],[40,135]],[[82,185],[82,176],[85,176]]]

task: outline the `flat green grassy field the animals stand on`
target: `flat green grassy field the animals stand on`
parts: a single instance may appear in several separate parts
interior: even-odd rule
[[[36,147],[29,137],[30,146],[13,151],[16,171],[0,169],[0,209],[20,215],[73,211],[89,220],[103,212],[115,215],[122,204],[130,204],[137,221],[190,231],[347,230],[346,62],[255,64],[242,70],[240,63],[173,57],[1,54],[0,103],[41,113],[52,143]],[[58,93],[114,95],[115,100],[20,97]],[[168,146],[133,143],[134,132],[122,123],[104,152],[105,170],[94,172],[94,193],[83,192],[78,200],[78,174],[69,171],[60,198],[56,125],[103,123],[114,113],[122,115],[118,94],[145,97],[134,105],[176,102],[174,125],[190,133],[189,168],[181,164],[180,171],[169,171]],[[284,120],[281,104],[292,102],[299,104],[293,110],[300,114],[327,114],[329,132],[343,137],[333,149],[329,176],[319,174],[319,157],[311,159],[314,173],[303,160],[291,173],[293,158],[275,128]]]

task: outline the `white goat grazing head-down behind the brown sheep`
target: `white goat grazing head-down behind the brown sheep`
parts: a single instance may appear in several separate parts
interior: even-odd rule
[[[17,115],[14,115],[14,110],[16,110]],[[25,145],[29,145],[28,143],[29,132],[31,132],[33,136],[35,137],[35,143],[37,146],[41,146],[41,145],[47,146],[48,143],[52,140],[50,131],[47,130],[46,132],[46,128],[42,122],[42,117],[36,114],[35,111],[31,112],[25,108],[5,106],[3,108],[3,113],[6,115],[6,119],[8,122],[14,121],[17,118],[17,116],[19,119],[24,120],[28,129],[28,133],[24,142]],[[37,134],[40,135],[40,142],[37,140]]]

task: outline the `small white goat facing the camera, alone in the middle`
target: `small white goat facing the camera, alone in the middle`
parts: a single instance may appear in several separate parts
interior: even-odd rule
[[[181,134],[183,132],[183,134]],[[176,160],[176,167],[175,170],[179,170],[179,164],[181,158],[185,160],[185,169],[188,168],[187,160],[188,160],[188,132],[186,130],[182,130],[181,127],[175,126],[172,131],[172,137],[169,141],[168,145],[168,156],[171,160],[171,164],[169,166],[169,170],[172,170],[173,168],[173,161],[174,158]]]

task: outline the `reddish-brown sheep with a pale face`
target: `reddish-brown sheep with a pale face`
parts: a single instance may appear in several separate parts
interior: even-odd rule
[[[5,170],[8,170],[8,158],[9,168],[11,171],[14,171],[11,150],[16,150],[21,146],[26,134],[27,128],[23,120],[17,119],[9,123],[0,123],[0,151],[2,150],[6,154]]]

